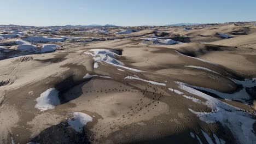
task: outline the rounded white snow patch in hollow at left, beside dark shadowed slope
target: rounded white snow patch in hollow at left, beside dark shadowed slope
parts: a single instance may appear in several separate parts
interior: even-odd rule
[[[60,104],[59,91],[55,88],[47,89],[45,92],[40,94],[40,97],[36,99],[36,108],[41,111],[54,109],[56,105]]]

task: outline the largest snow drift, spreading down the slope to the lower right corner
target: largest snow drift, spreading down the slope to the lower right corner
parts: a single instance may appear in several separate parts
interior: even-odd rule
[[[210,107],[212,112],[196,112],[189,109],[191,112],[199,116],[201,121],[206,123],[219,122],[223,127],[229,128],[235,139],[237,139],[240,143],[256,142],[255,131],[253,129],[253,124],[256,122],[256,120],[252,115],[242,109],[238,109],[235,106],[231,106],[216,98],[213,98],[210,95],[197,91],[196,89],[191,88],[187,83],[177,83],[179,88],[183,89],[184,91],[206,99],[206,102],[202,103],[200,101],[200,103]]]

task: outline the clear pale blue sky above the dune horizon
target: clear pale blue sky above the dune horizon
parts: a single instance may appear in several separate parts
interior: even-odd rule
[[[167,25],[256,21],[256,0],[0,0],[0,11],[0,25]]]

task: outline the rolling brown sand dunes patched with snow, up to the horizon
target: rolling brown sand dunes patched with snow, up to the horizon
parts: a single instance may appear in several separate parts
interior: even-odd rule
[[[0,143],[256,143],[254,25],[0,26]]]

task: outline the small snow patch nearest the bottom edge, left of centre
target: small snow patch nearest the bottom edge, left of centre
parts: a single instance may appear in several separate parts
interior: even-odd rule
[[[74,112],[73,118],[68,119],[67,123],[77,132],[82,132],[84,125],[92,122],[92,117],[82,112]]]

